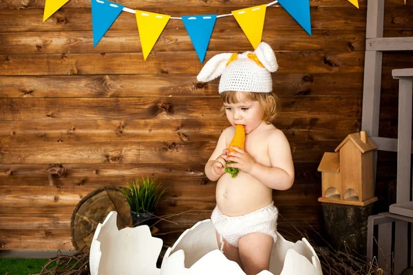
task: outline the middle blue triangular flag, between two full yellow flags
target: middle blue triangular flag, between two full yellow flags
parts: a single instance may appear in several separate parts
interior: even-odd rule
[[[182,17],[185,28],[191,38],[196,54],[201,63],[204,62],[207,54],[209,40],[213,31],[213,26],[217,20],[217,14],[189,15]]]

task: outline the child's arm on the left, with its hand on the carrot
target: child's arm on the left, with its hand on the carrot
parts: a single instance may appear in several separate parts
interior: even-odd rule
[[[226,148],[226,136],[230,128],[222,131],[218,144],[205,165],[205,175],[211,181],[217,181],[225,173],[225,162],[228,157],[226,154],[229,153],[228,148]]]

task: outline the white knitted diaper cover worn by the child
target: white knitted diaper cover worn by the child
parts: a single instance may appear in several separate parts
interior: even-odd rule
[[[215,206],[211,214],[211,221],[215,225],[215,230],[220,234],[221,252],[224,252],[225,239],[230,245],[237,248],[241,237],[250,233],[264,233],[273,237],[274,243],[277,241],[277,217],[278,210],[274,202],[264,206],[254,212],[243,216],[229,217],[221,213],[218,206]]]

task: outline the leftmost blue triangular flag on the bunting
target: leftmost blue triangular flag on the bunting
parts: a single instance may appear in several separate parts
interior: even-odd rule
[[[123,5],[105,0],[92,0],[93,46],[95,47],[123,10]]]

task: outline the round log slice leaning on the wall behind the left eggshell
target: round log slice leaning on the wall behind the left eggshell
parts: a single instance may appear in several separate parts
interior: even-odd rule
[[[121,230],[131,227],[132,219],[129,204],[122,192],[114,186],[100,188],[90,192],[79,201],[70,221],[72,244],[76,251],[87,252],[98,223],[103,223],[111,211],[118,212],[117,225]]]

